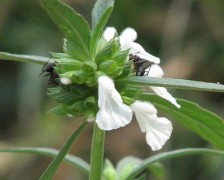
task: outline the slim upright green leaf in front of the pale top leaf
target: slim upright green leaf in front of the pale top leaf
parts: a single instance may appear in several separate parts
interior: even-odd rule
[[[94,57],[96,54],[96,49],[97,49],[97,46],[99,43],[99,39],[101,38],[101,36],[103,34],[104,27],[110,17],[112,10],[113,10],[113,6],[111,6],[105,10],[105,13],[102,15],[101,19],[97,23],[96,28],[93,31],[91,44],[90,44],[90,53],[91,53],[92,57]]]

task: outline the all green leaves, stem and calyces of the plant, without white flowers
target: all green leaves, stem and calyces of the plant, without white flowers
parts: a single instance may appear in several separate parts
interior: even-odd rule
[[[117,37],[109,42],[102,37],[105,25],[113,10],[114,0],[97,0],[92,11],[92,30],[87,21],[71,7],[59,0],[41,0],[41,3],[55,24],[63,32],[63,53],[52,53],[55,62],[55,73],[69,78],[72,83],[62,84],[57,79],[57,86],[48,89],[48,94],[59,105],[52,111],[63,116],[84,116],[86,120],[94,120],[98,110],[97,78],[108,75],[114,79],[116,88],[122,95],[123,101],[130,105],[135,99],[152,102],[158,109],[167,112],[185,127],[197,133],[204,140],[220,149],[224,149],[224,121],[219,116],[201,108],[197,104],[178,99],[181,108],[178,109],[168,101],[152,95],[143,94],[143,86],[173,87],[179,89],[224,92],[224,86],[215,83],[204,83],[170,78],[133,77],[132,62],[127,62],[129,50],[121,51]],[[0,58],[43,64],[48,58],[16,55],[0,52]],[[86,126],[84,122],[63,145],[60,152],[43,149],[2,150],[2,152],[31,152],[55,156],[41,179],[52,179],[63,159],[72,162],[66,154],[72,143],[77,139]],[[101,179],[103,167],[105,132],[94,124],[94,135],[91,151],[90,179]],[[56,155],[57,154],[57,155]],[[224,156],[223,152],[206,149],[186,149],[152,156],[146,160],[129,157],[122,159],[117,166],[117,174],[112,163],[105,164],[105,177],[119,179],[141,178],[141,174],[148,169],[163,176],[164,172],[158,161],[190,154],[216,154]],[[84,163],[84,165],[83,165]],[[76,164],[89,173],[90,167],[84,161],[77,160]],[[141,177],[140,177],[141,176]]]

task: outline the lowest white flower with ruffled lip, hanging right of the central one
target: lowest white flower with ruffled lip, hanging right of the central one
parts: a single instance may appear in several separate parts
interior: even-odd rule
[[[171,122],[164,117],[158,117],[156,108],[148,102],[135,101],[130,107],[141,131],[146,133],[147,144],[153,151],[160,150],[172,133]]]

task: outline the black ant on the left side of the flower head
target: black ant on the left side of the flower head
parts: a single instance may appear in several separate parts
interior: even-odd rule
[[[55,67],[55,63],[46,62],[46,64],[42,68],[42,72],[39,75],[41,77],[50,76],[48,85],[59,85],[59,83],[57,82],[57,78],[59,76],[55,72],[54,67]]]

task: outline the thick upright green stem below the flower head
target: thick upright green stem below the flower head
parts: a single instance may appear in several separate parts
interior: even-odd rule
[[[104,155],[104,139],[105,132],[99,129],[95,123],[91,148],[89,180],[101,179]]]

